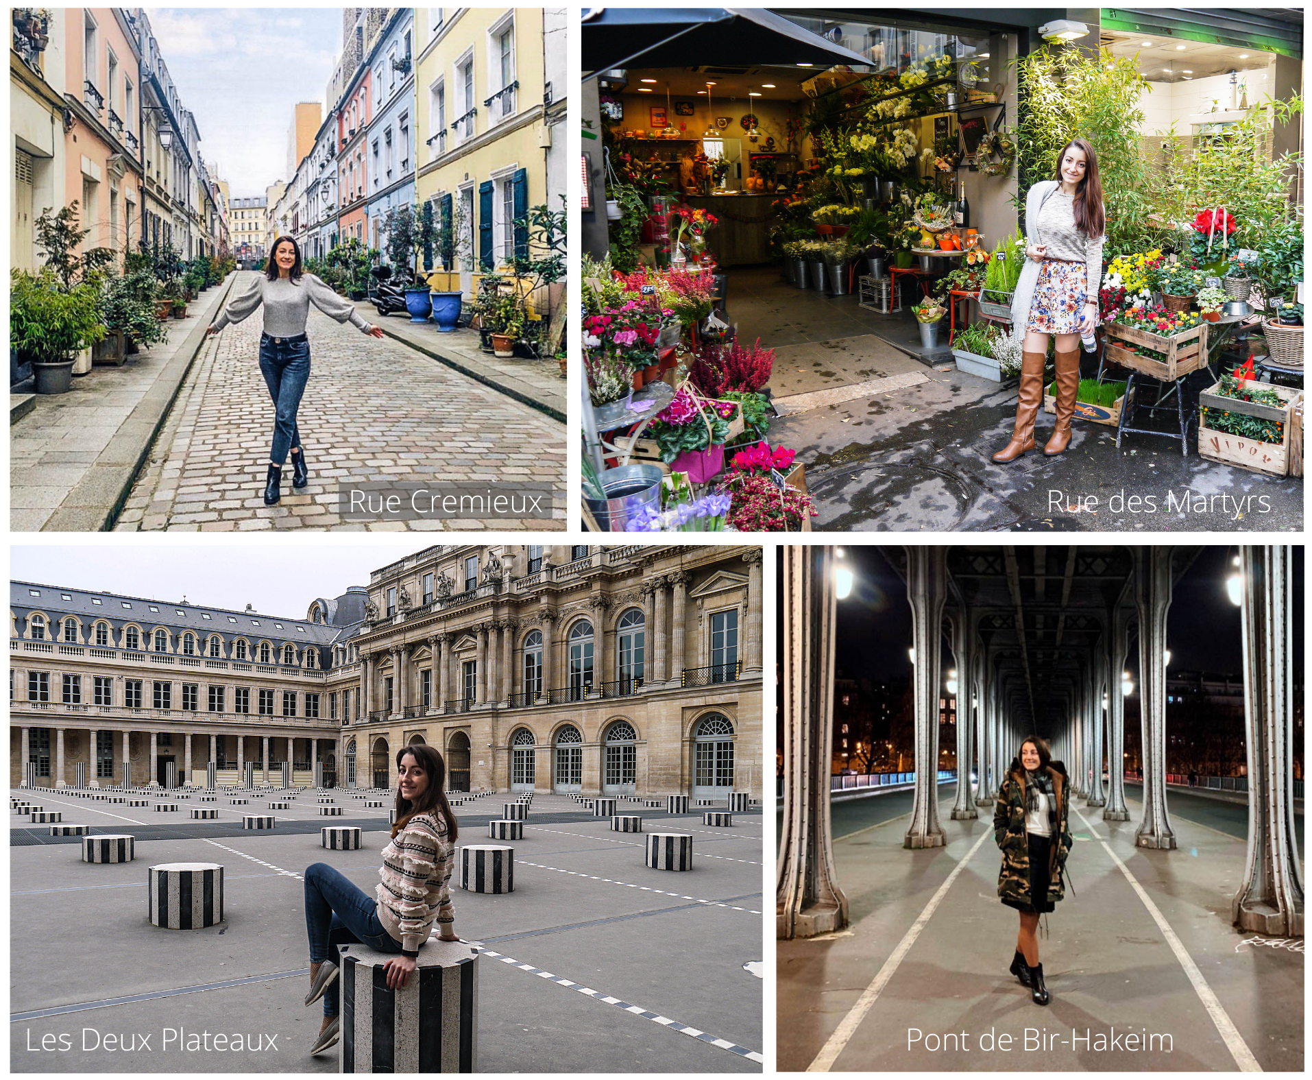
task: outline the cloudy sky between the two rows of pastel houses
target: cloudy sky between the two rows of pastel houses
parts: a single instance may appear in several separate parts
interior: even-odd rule
[[[323,105],[341,51],[341,8],[147,8],[201,156],[234,198],[287,173],[298,101]]]

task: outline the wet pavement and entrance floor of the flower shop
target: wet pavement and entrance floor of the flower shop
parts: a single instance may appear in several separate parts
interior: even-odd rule
[[[798,451],[820,516],[834,531],[1296,531],[1303,482],[1216,465],[1198,455],[1197,421],[1187,455],[1178,440],[1126,434],[1076,420],[1071,447],[1056,458],[1031,451],[1009,466],[991,455],[1006,445],[1015,386],[1000,386],[909,356],[917,329],[908,312],[863,310],[855,295],[825,297],[781,281],[774,268],[729,273],[728,311],[745,341],[775,349],[770,388],[785,413],[770,442]],[[941,328],[946,340],[947,327]],[[947,370],[937,370],[937,369]],[[897,379],[875,392],[789,411],[787,398]],[[1094,374],[1093,371],[1086,375]],[[1187,381],[1189,398],[1207,388]],[[842,398],[836,392],[834,398]],[[811,402],[803,404],[811,405]],[[1172,421],[1173,421],[1172,413]],[[1136,425],[1166,429],[1166,417]],[[1054,417],[1040,413],[1042,447]],[[1097,500],[1097,501],[1094,501]]]

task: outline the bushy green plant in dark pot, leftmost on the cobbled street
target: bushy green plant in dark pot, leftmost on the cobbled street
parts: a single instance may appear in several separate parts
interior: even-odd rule
[[[50,268],[39,276],[13,270],[10,282],[9,341],[30,361],[38,394],[64,394],[76,354],[105,335],[100,287],[84,281],[60,289]]]

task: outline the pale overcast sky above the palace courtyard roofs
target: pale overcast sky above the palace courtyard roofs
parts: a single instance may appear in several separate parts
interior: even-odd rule
[[[316,597],[332,598],[348,585],[367,585],[380,570],[429,545],[384,541],[370,545],[14,545],[9,576],[18,581],[304,618]]]

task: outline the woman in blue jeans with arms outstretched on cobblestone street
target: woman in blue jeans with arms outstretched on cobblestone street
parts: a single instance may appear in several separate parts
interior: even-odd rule
[[[264,333],[260,335],[260,373],[273,398],[273,450],[269,454],[269,475],[264,486],[265,505],[272,507],[282,497],[282,466],[291,451],[291,486],[303,488],[310,483],[306,468],[306,450],[297,428],[300,395],[310,379],[310,340],[306,337],[306,319],[310,304],[338,323],[350,322],[362,333],[382,337],[379,327],[371,327],[356,314],[353,304],[332,291],[320,278],[300,269],[300,248],[290,236],[273,241],[269,272],[251,282],[240,297],[228,303],[227,310],[206,331],[218,333],[228,323],[240,323],[264,304]]]

